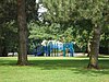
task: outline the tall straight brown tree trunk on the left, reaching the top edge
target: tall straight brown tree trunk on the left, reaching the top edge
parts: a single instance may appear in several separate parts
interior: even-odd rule
[[[17,65],[27,65],[27,24],[26,24],[26,12],[25,12],[25,0],[17,0],[17,25],[19,25],[19,59]]]

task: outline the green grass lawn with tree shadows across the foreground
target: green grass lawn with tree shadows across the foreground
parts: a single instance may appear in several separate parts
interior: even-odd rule
[[[32,66],[16,66],[15,57],[0,58],[0,82],[109,82],[109,58],[100,70],[87,70],[88,58],[29,57]]]

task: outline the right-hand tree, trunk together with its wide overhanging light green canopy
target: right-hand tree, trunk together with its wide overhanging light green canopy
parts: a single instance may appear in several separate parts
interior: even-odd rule
[[[81,20],[89,20],[93,28],[93,39],[88,68],[98,68],[98,54],[101,28],[106,25],[106,16],[109,12],[109,0],[44,0],[48,9],[45,20],[66,24],[73,24]],[[104,14],[107,12],[107,14]],[[63,30],[63,28],[61,28]]]

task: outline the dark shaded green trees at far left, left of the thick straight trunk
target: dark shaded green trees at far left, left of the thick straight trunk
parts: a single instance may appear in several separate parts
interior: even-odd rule
[[[7,57],[9,49],[16,43],[13,39],[17,32],[15,21],[16,20],[16,4],[13,0],[0,1],[0,56]],[[14,22],[14,24],[13,24]],[[9,37],[8,37],[9,36]],[[12,44],[12,42],[14,44]],[[10,47],[10,48],[9,48]]]

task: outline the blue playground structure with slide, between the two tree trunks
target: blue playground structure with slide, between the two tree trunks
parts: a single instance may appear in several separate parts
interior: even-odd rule
[[[46,45],[40,45],[37,46],[33,54],[35,56],[53,56],[53,57],[59,57],[61,54],[63,57],[73,57],[74,56],[74,48],[73,48],[73,43],[48,43]]]

